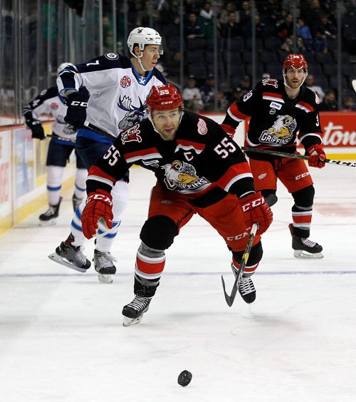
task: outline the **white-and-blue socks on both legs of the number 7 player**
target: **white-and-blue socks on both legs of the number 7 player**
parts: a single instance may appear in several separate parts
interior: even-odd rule
[[[112,214],[114,219],[112,220],[112,229],[108,229],[106,225],[99,221],[98,225],[98,235],[95,238],[95,249],[100,252],[110,252],[112,243],[116,237],[117,231],[119,230],[121,216],[125,212],[127,207],[127,202],[129,199],[129,187],[127,182],[124,180],[119,180],[115,183],[114,188],[111,192],[112,195]],[[86,197],[83,199],[82,203],[79,205],[74,213],[73,220],[70,224],[70,230],[74,237],[74,246],[83,246],[85,242],[85,236],[82,229],[81,216],[85,207]]]

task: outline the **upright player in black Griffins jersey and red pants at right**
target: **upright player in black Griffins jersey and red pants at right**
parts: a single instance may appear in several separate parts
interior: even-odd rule
[[[253,91],[233,103],[221,126],[229,135],[251,116],[245,145],[250,148],[297,153],[296,138],[309,156],[308,165],[325,166],[325,152],[321,145],[318,95],[302,86],[308,76],[308,64],[301,54],[289,54],[283,62],[283,81],[271,78],[258,83]],[[277,179],[291,193],[294,256],[322,258],[323,247],[308,239],[313,213],[314,186],[304,160],[278,158],[261,153],[247,153],[255,180],[268,205],[277,202]]]

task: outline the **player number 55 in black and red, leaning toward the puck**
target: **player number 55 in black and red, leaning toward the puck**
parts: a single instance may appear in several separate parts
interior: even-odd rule
[[[112,227],[112,188],[132,164],[157,177],[148,219],[140,232],[135,266],[135,299],[124,306],[124,326],[137,324],[159,285],[170,247],[179,230],[199,214],[224,238],[236,274],[253,222],[258,232],[241,279],[246,303],[256,298],[251,275],[262,257],[261,234],[272,212],[256,192],[250,167],[221,126],[209,118],[183,111],[182,96],[171,84],[152,88],[147,98],[149,120],[127,129],[108,153],[90,168],[88,199],[82,214],[85,237],[93,237],[98,220]]]

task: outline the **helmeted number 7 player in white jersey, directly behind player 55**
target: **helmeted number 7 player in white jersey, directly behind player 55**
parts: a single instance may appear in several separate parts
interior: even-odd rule
[[[106,53],[83,64],[64,69],[57,84],[61,95],[67,98],[66,121],[79,128],[76,149],[90,168],[98,158],[105,155],[120,132],[138,123],[145,114],[145,101],[153,85],[166,83],[155,68],[161,54],[161,36],[154,29],[135,28],[127,38],[131,58]],[[89,100],[78,90],[85,86]],[[88,100],[88,105],[87,105]],[[128,172],[121,177],[112,190],[113,225],[110,230],[100,224],[95,240],[94,266],[101,282],[111,283],[116,272],[110,254],[125,211],[128,192]],[[84,202],[76,210],[70,225],[68,239],[49,257],[79,272],[86,272],[90,262],[81,251],[85,237],[81,225]]]

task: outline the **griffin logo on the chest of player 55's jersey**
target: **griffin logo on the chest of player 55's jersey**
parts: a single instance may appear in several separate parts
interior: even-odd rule
[[[205,177],[198,177],[194,166],[180,160],[174,160],[161,167],[164,169],[164,182],[169,190],[197,190],[199,187],[207,187],[209,181]],[[202,190],[202,189],[200,189]]]

